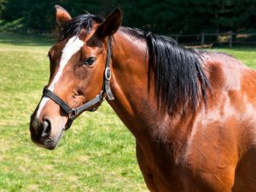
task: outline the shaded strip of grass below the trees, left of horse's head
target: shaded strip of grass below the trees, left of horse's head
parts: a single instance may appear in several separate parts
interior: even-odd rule
[[[50,46],[54,44],[51,37],[16,34],[16,33],[0,33],[0,44],[26,45],[26,46]]]

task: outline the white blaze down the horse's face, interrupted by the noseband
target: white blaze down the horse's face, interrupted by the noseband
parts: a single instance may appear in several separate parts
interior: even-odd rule
[[[79,37],[74,36],[73,38],[70,38],[65,45],[64,49],[62,50],[62,55],[61,55],[61,62],[60,62],[60,67],[58,69],[58,72],[55,74],[55,78],[49,84],[48,89],[51,91],[54,91],[55,89],[55,84],[58,82],[58,80],[61,78],[61,74],[63,72],[63,69],[67,66],[68,61],[70,58],[76,54],[79,49],[81,49],[84,45],[84,42],[79,39]],[[36,114],[36,119],[39,119],[40,113],[42,112],[42,109],[44,108],[44,105],[46,102],[49,101],[49,97],[44,96],[39,104],[39,108]]]

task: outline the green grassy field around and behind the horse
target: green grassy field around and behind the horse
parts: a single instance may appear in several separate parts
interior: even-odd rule
[[[30,115],[49,79],[43,38],[0,34],[0,191],[147,191],[135,140],[104,102],[54,151],[30,140]],[[218,49],[256,68],[256,48]]]

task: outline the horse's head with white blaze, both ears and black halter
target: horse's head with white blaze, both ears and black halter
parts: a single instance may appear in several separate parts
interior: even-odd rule
[[[111,36],[118,30],[122,13],[115,9],[103,18],[86,13],[72,18],[55,6],[60,39],[49,49],[49,83],[32,113],[32,141],[54,149],[80,113],[95,110],[108,96]]]

